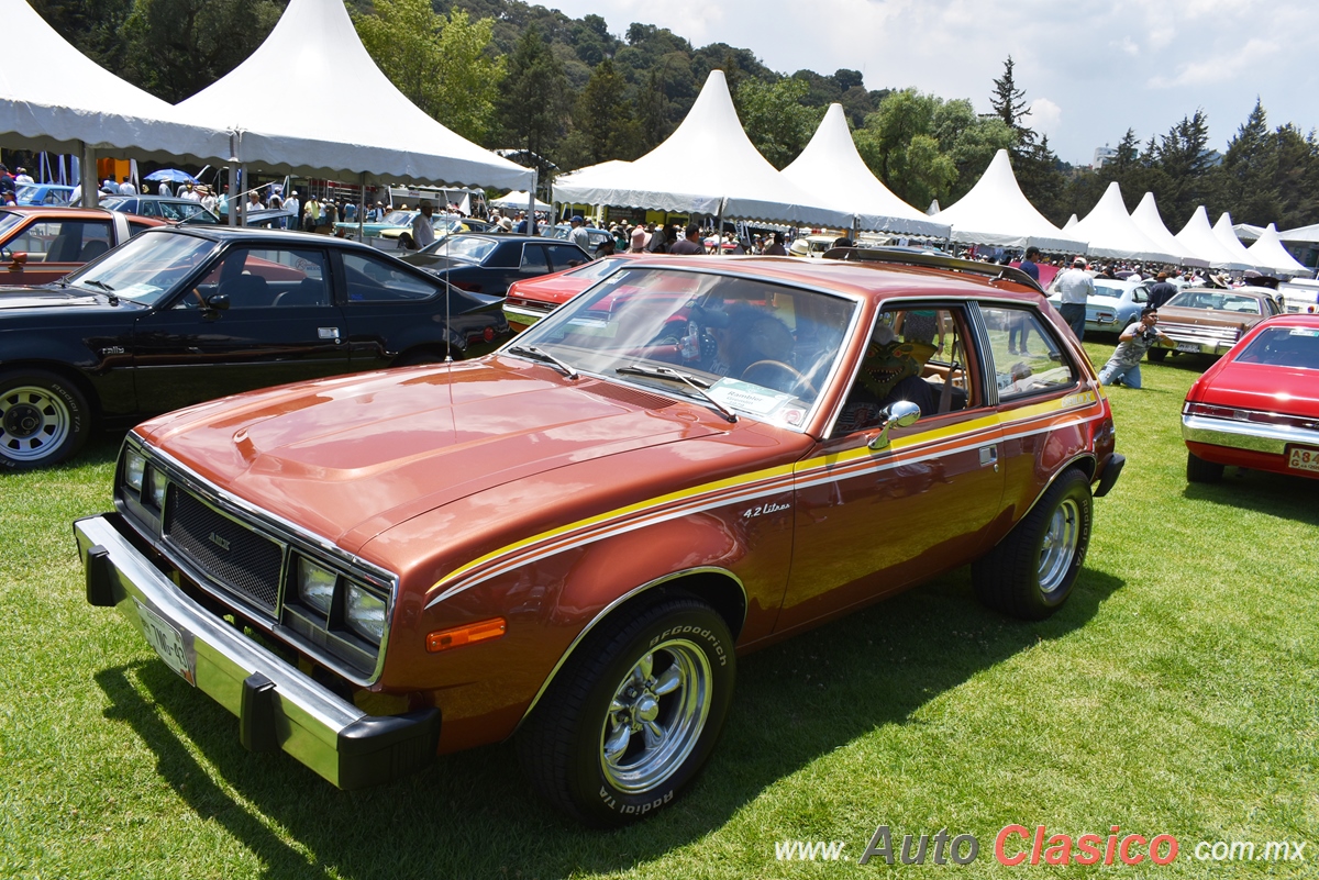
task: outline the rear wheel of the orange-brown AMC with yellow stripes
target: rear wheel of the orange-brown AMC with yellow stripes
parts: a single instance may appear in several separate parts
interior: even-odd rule
[[[1043,620],[1067,601],[1089,547],[1089,481],[1070,469],[1008,536],[976,560],[971,580],[989,607]]]

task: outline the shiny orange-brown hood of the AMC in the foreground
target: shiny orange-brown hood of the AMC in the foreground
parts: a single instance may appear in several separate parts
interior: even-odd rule
[[[137,433],[220,489],[357,552],[495,486],[719,431],[691,410],[488,358],[239,395]]]

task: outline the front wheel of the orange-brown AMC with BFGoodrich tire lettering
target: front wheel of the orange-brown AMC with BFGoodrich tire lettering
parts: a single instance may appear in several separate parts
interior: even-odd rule
[[[520,731],[522,768],[546,801],[584,825],[649,815],[706,763],[735,677],[732,635],[708,605],[679,595],[615,614],[578,646]],[[654,742],[648,721],[661,731]],[[611,740],[621,751],[611,755]]]

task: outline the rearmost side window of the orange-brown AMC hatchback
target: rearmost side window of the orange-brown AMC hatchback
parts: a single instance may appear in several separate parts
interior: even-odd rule
[[[998,400],[1053,394],[1076,385],[1079,373],[1054,328],[1033,308],[981,303]]]

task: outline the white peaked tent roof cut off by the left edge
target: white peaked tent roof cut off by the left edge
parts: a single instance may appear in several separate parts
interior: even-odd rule
[[[223,125],[186,124],[174,107],[69,45],[24,0],[0,0],[0,18],[11,36],[0,66],[7,144],[77,153],[83,142],[140,155],[228,158]]]

